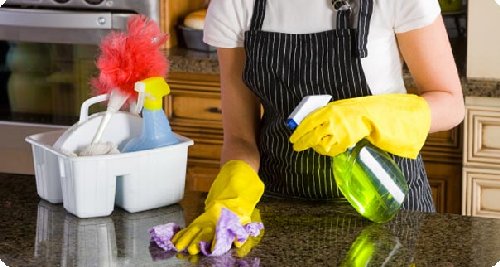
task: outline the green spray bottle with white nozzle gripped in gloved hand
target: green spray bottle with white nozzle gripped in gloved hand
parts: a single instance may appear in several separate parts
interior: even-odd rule
[[[303,118],[330,99],[328,95],[305,97],[288,117],[288,127],[295,129]],[[359,214],[373,222],[391,220],[408,194],[408,184],[398,165],[387,152],[366,139],[332,157],[332,166],[344,197]]]

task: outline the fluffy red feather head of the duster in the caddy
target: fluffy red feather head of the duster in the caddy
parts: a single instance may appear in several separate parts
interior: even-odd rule
[[[132,96],[129,101],[135,101],[135,82],[167,74],[168,61],[160,49],[167,38],[156,22],[143,15],[131,16],[127,32],[111,32],[100,44],[96,63],[100,73],[91,80],[94,94],[118,89]]]

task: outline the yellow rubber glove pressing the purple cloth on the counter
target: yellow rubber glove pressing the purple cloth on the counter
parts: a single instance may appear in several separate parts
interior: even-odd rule
[[[215,226],[222,208],[235,213],[242,225],[247,224],[263,193],[264,183],[250,165],[241,160],[226,162],[208,192],[205,212],[179,231],[172,242],[178,251],[187,247],[189,254],[198,254],[200,241],[216,243]]]

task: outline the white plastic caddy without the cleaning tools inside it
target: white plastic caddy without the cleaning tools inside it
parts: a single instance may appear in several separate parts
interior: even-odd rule
[[[88,106],[82,105],[82,110],[85,108],[88,111]],[[111,120],[120,119],[115,115]],[[132,118],[134,115],[127,116]],[[88,120],[91,118],[97,126],[102,114],[96,113]],[[86,119],[86,116],[81,116],[78,124]],[[118,129],[121,134],[113,134],[117,127],[111,125],[112,122],[102,140],[112,141],[118,147],[140,134],[140,129],[123,127]],[[193,144],[192,140],[177,135],[181,142],[170,146],[115,155],[75,157],[53,147],[66,132],[50,131],[26,138],[32,146],[37,192],[42,199],[51,203],[63,202],[64,208],[77,217],[92,218],[110,215],[115,204],[134,213],[177,203],[183,198],[188,147]],[[116,136],[119,136],[118,140]],[[81,144],[90,144],[91,138],[81,140]]]

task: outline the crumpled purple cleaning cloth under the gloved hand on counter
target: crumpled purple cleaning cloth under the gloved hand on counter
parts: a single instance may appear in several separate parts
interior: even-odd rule
[[[219,220],[215,227],[214,249],[210,251],[211,243],[200,242],[201,253],[205,256],[220,256],[231,249],[234,240],[245,242],[249,236],[256,237],[260,230],[264,228],[263,223],[240,224],[240,219],[236,214],[228,209],[222,209]],[[165,251],[177,251],[172,243],[172,237],[179,232],[181,228],[175,223],[167,223],[155,226],[149,230],[151,241],[155,242]]]

